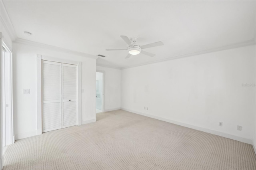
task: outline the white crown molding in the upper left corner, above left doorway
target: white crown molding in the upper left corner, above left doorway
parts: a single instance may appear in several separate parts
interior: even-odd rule
[[[12,25],[12,21],[10,20],[9,14],[4,6],[4,2],[0,0],[0,22],[8,32],[12,41],[17,39],[16,32],[14,30],[14,26]]]

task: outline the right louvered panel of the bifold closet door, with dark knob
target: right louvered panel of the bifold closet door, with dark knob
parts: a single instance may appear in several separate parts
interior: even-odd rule
[[[62,64],[63,128],[77,125],[77,66]]]

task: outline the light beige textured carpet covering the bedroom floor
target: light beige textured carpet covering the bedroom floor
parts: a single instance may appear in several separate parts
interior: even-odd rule
[[[4,170],[256,170],[252,145],[118,110],[16,140]]]

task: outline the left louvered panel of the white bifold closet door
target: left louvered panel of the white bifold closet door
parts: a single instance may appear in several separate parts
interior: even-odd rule
[[[62,128],[61,63],[42,61],[43,132]]]

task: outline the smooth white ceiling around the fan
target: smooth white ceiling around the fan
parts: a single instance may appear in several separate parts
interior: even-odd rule
[[[256,1],[4,1],[18,38],[99,57],[97,63],[130,67],[209,49],[255,42]],[[24,35],[24,31],[32,36]],[[120,35],[163,46],[124,59]]]

